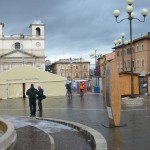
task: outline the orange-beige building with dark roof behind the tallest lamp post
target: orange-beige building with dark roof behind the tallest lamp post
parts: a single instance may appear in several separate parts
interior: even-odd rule
[[[150,73],[150,32],[133,40],[133,70],[134,73],[139,73],[144,76]],[[130,55],[130,43],[127,45],[118,45],[113,49],[115,52],[115,58],[117,61],[117,67],[119,72],[130,71],[131,55]],[[123,55],[122,55],[123,52]]]

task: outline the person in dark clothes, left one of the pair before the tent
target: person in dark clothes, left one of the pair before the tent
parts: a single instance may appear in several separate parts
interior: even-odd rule
[[[34,84],[31,84],[31,87],[27,90],[26,95],[29,97],[30,116],[35,117],[38,90],[34,88]]]

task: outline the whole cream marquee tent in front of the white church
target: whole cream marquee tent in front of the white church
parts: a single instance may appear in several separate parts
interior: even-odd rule
[[[64,96],[66,78],[31,66],[18,66],[0,74],[0,99],[23,97],[31,83],[46,96]]]

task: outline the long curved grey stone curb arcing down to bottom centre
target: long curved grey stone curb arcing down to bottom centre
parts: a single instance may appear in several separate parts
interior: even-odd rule
[[[40,118],[40,117],[36,117],[36,119],[52,121],[52,122],[60,123],[69,126],[71,128],[77,129],[79,132],[83,133],[92,142],[95,150],[107,150],[107,142],[103,137],[103,135],[88,126],[76,122],[61,120],[61,119]]]

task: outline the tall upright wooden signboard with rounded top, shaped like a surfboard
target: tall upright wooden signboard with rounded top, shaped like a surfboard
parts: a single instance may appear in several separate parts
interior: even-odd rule
[[[111,61],[106,66],[105,88],[106,108],[109,117],[109,124],[112,126],[119,126],[121,113],[121,94],[119,73],[115,61]]]

